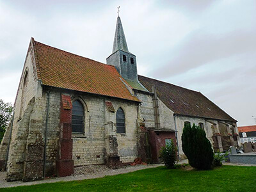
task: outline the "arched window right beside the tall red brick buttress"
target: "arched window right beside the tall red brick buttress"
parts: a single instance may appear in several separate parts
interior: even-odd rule
[[[72,102],[72,132],[84,133],[84,107],[79,100]]]

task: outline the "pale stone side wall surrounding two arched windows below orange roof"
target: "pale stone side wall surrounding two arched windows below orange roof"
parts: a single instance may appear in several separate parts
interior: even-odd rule
[[[73,159],[75,166],[85,164],[105,163],[105,127],[109,122],[116,126],[116,113],[106,109],[105,101],[113,104],[115,111],[122,108],[125,113],[125,134],[116,134],[118,141],[118,154],[120,160],[125,162],[133,161],[137,156],[136,150],[136,129],[137,129],[137,104],[120,99],[106,99],[100,96],[84,94],[71,94],[72,100],[82,100],[85,113],[84,135],[73,135]]]

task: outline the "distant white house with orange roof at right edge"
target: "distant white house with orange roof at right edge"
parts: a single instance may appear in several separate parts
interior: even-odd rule
[[[237,127],[241,143],[255,143],[256,142],[256,125]]]

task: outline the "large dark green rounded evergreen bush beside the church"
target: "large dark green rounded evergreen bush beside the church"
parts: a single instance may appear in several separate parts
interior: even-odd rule
[[[193,124],[185,124],[182,132],[182,150],[189,164],[198,170],[212,168],[213,151],[204,129]]]

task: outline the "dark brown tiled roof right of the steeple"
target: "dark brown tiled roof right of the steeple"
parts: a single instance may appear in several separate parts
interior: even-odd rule
[[[157,97],[175,114],[236,122],[200,92],[144,76],[138,76],[138,79],[150,92],[152,86],[156,86]]]

